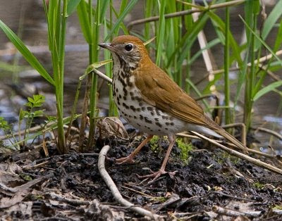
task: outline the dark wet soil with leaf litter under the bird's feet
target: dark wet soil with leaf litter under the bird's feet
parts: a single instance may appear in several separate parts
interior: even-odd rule
[[[154,171],[160,168],[167,141],[161,141],[162,148],[158,151],[152,151],[147,144],[132,165],[114,163],[114,158],[127,156],[139,143],[140,140],[130,144],[122,139],[109,139],[99,141],[94,151],[99,153],[104,144],[111,146],[106,170],[128,201],[164,215],[166,220],[173,217],[235,219],[236,215],[217,213],[216,206],[235,211],[261,211],[256,216],[244,215],[243,220],[282,219],[282,215],[272,211],[282,206],[281,175],[218,149],[201,149],[201,143],[188,153],[188,163],[183,163],[176,144],[166,167],[168,171],[177,170],[176,175],[162,175],[148,184],[149,180],[139,179],[137,175],[147,175],[147,168]],[[47,148],[49,158],[37,149],[0,156],[0,182],[4,184],[0,187],[0,217],[4,220],[144,220],[116,203],[99,174],[97,154],[71,150],[60,156],[54,144]],[[30,182],[33,183],[27,185]],[[16,189],[16,193],[11,189]],[[111,218],[106,218],[97,209],[97,202],[124,215],[115,216],[111,212]]]

